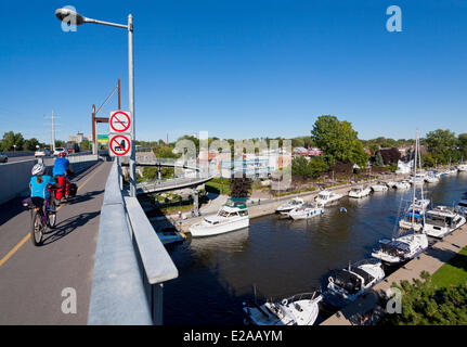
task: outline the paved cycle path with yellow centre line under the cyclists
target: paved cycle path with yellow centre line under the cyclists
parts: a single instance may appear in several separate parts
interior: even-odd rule
[[[20,200],[0,205],[0,324],[86,324],[99,216],[112,163],[100,162],[74,181],[78,195],[57,211],[44,245],[29,239],[30,216]],[[64,314],[64,288],[76,290],[77,313]]]

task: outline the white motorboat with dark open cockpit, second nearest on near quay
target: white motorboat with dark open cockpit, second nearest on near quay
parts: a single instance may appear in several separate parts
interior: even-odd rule
[[[325,299],[333,306],[341,307],[355,300],[369,287],[385,278],[381,261],[365,259],[328,278]]]

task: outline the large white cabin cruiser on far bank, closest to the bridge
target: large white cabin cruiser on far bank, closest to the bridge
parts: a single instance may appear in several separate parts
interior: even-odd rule
[[[189,230],[193,237],[202,237],[222,234],[248,226],[246,200],[231,197],[216,216],[205,217],[202,222],[191,226]]]

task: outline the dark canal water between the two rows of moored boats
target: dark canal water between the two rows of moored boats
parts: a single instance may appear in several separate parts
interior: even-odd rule
[[[467,172],[424,190],[434,205],[452,206],[467,191]],[[165,283],[165,324],[243,324],[242,303],[254,297],[254,285],[268,298],[324,290],[332,270],[369,258],[378,240],[393,234],[401,205],[411,197],[412,190],[393,189],[343,197],[309,220],[271,215],[251,219],[248,229],[168,247],[179,278]],[[327,316],[320,313],[316,323]]]

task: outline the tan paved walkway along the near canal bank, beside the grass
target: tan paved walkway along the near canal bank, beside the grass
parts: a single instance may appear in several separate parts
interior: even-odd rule
[[[389,290],[392,283],[399,285],[404,280],[412,283],[412,279],[420,279],[420,272],[424,270],[433,274],[465,246],[467,246],[466,224],[444,237],[444,240],[437,242],[418,258],[408,261],[394,271],[369,292],[329,317],[321,325],[362,325],[363,318],[367,316],[372,316],[371,321],[377,322],[386,311],[386,308],[379,306],[379,298],[386,296],[386,291]]]

